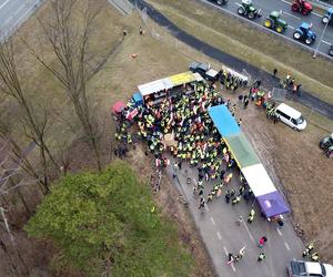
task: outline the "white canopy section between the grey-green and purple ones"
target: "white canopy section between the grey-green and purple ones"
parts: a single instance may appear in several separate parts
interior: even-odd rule
[[[255,197],[275,192],[276,188],[262,164],[242,168],[242,173]]]

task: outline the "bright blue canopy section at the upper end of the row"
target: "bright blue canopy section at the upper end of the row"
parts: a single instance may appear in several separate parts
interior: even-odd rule
[[[209,110],[209,114],[222,137],[238,135],[241,133],[239,124],[231,115],[226,105],[212,106]]]

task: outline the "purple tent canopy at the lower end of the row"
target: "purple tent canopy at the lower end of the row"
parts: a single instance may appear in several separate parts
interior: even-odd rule
[[[256,199],[266,218],[290,212],[283,197],[278,191],[260,195]]]

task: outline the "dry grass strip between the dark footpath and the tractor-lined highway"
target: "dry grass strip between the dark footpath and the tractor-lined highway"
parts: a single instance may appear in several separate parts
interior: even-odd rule
[[[304,90],[333,103],[333,63],[195,1],[150,0],[184,31],[266,72],[291,73]]]

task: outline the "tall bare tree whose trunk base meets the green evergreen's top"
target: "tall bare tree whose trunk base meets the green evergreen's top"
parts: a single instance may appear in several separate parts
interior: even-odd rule
[[[90,143],[99,171],[101,171],[100,129],[95,114],[87,95],[88,81],[100,69],[104,61],[92,65],[97,54],[90,53],[89,42],[93,22],[100,9],[93,9],[97,1],[53,0],[52,11],[48,19],[39,19],[47,41],[56,54],[56,60],[48,62],[40,52],[32,50],[37,60],[62,84],[73,110]],[[83,19],[75,19],[82,9]],[[78,23],[81,22],[81,23]]]

